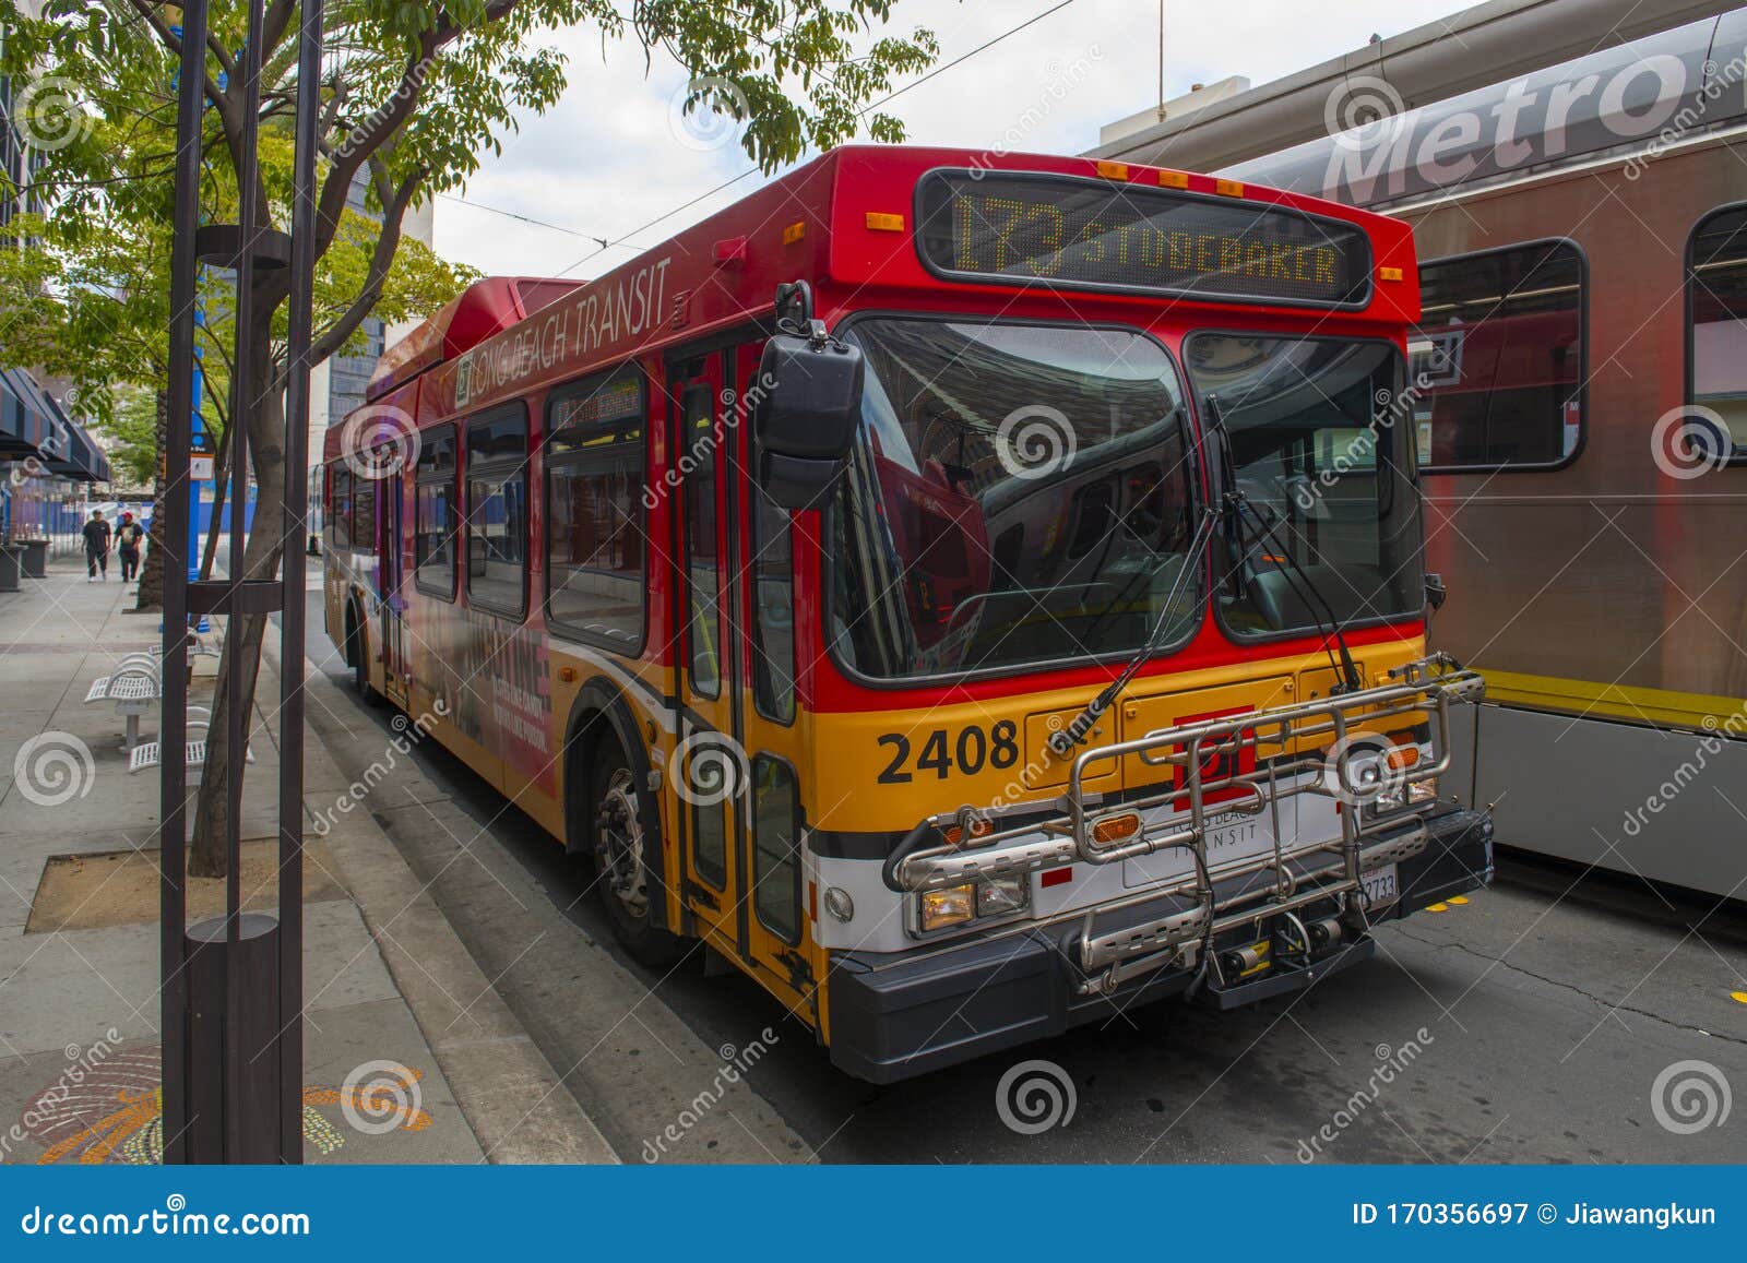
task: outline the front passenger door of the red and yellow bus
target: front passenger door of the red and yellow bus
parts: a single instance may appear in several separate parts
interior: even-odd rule
[[[798,856],[790,845],[784,868],[772,849],[783,830],[763,821],[783,814],[798,819],[798,788],[793,758],[770,748],[769,720],[755,704],[749,618],[756,583],[748,550],[746,426],[739,424],[744,363],[744,349],[713,351],[669,374],[673,452],[683,470],[681,755],[673,788],[685,839],[685,901],[699,933],[793,1004],[805,997],[805,970],[795,952],[802,931]],[[770,692],[769,683],[760,688]],[[793,898],[760,898],[765,880],[788,880]]]

